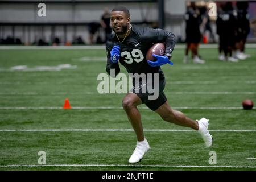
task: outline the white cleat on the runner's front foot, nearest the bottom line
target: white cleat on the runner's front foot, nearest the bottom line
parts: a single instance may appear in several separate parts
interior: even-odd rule
[[[136,148],[133,151],[133,154],[131,155],[128,162],[131,164],[139,162],[148,150],[150,150],[150,146],[146,138],[143,142],[137,142]]]

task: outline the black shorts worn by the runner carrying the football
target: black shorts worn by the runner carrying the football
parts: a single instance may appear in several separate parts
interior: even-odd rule
[[[137,94],[137,96],[141,98],[142,104],[145,104],[153,111],[158,109],[167,101],[166,95],[163,92],[164,86],[166,85],[165,78],[159,78],[158,90],[155,89],[155,85],[154,81],[152,81],[152,83],[139,81],[139,83],[135,84],[133,89],[130,90],[130,92]],[[150,86],[149,88],[155,89],[156,92],[154,91],[154,93],[152,93],[152,90],[148,89],[148,86]]]

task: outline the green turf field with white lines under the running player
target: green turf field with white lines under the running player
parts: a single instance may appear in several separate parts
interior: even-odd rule
[[[121,108],[125,94],[97,93],[104,49],[0,50],[0,170],[256,170],[256,110],[241,106],[246,98],[256,104],[256,52],[246,51],[250,59],[224,63],[217,49],[201,49],[207,63],[199,65],[183,64],[184,49],[175,49],[174,66],[162,67],[166,96],[188,117],[210,120],[213,146],[142,105],[151,150],[132,165],[136,138]],[[74,67],[55,70],[60,64]],[[17,65],[29,69],[12,71]],[[73,109],[61,109],[65,98]],[[217,164],[208,163],[210,151]]]

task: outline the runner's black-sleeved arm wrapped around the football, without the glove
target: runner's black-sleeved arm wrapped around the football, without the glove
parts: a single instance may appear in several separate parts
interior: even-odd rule
[[[168,59],[171,59],[176,41],[176,37],[172,32],[162,29],[144,28],[142,38],[148,43],[164,42],[166,44],[165,55]]]

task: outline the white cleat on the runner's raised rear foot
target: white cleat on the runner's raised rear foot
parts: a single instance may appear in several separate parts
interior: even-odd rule
[[[206,147],[212,146],[213,138],[212,138],[212,135],[210,135],[209,130],[208,130],[209,119],[202,118],[197,122],[199,124],[198,132],[203,137],[204,142],[205,142],[205,146]]]

